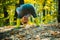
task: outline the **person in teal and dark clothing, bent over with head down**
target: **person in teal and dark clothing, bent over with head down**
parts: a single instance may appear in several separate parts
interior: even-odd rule
[[[20,7],[18,7],[16,9],[16,11],[17,11],[17,14],[18,14],[17,26],[20,25],[21,19],[24,20],[23,21],[24,23],[27,23],[28,22],[28,17],[30,15],[32,15],[35,18],[35,20],[37,19],[37,15],[36,15],[35,9],[34,9],[34,7],[31,4],[23,4]],[[37,23],[38,21],[35,21],[35,22]]]

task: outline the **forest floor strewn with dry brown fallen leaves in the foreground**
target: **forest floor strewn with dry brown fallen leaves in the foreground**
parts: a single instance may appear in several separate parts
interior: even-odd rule
[[[60,23],[41,24],[40,27],[1,27],[0,40],[60,40]]]

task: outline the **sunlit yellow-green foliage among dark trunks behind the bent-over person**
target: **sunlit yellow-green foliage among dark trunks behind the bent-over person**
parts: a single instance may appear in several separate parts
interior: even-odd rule
[[[58,10],[57,0],[24,0],[24,3],[34,5],[40,23],[56,21]],[[19,4],[19,0],[0,0],[0,26],[3,25],[7,19],[9,19],[10,25],[14,25],[14,22],[16,22],[16,20],[14,20],[16,4]],[[3,7],[6,7],[8,12],[7,18],[4,18]],[[45,10],[45,16],[43,15],[43,10]]]

